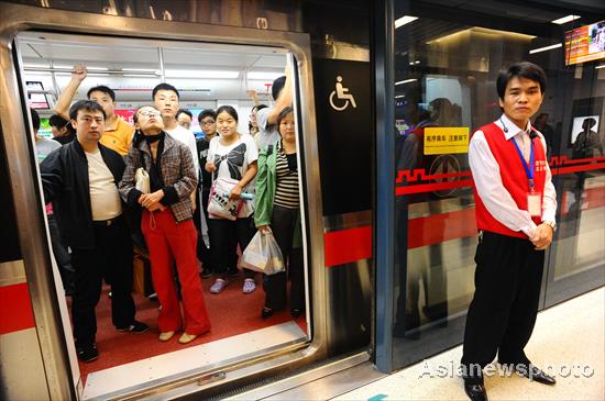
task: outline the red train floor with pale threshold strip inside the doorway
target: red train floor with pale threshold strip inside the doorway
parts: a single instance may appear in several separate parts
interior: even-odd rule
[[[256,291],[242,293],[243,275],[230,279],[220,294],[211,294],[213,279],[202,280],[204,298],[212,328],[187,345],[177,342],[179,334],[168,342],[157,338],[157,300],[133,292],[136,320],[150,325],[142,334],[118,332],[111,324],[109,287],[105,286],[97,305],[97,347],[99,358],[79,363],[85,385],[84,399],[109,394],[170,375],[182,374],[208,365],[245,357],[280,344],[306,337],[305,315],[294,321],[289,311],[276,312],[261,319],[264,291],[261,275]],[[68,305],[70,304],[69,298]]]

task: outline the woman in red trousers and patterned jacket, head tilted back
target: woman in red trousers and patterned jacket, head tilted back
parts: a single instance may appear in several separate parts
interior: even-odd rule
[[[183,328],[178,342],[187,344],[210,331],[198,275],[197,232],[189,197],[198,176],[191,152],[166,135],[157,109],[152,105],[140,108],[134,114],[134,123],[136,133],[127,155],[120,193],[130,205],[143,208],[141,230],[150,249],[153,285],[162,304],[157,318],[160,341],[170,339]],[[135,174],[140,167],[148,174],[151,193],[142,193],[135,188]],[[182,285],[184,316],[173,278],[175,261]]]

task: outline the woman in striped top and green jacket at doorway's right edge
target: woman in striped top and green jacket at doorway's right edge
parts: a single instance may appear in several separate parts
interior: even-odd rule
[[[277,116],[282,140],[268,145],[258,155],[258,175],[254,198],[254,224],[261,232],[273,232],[279,246],[284,265],[288,269],[264,276],[265,307],[263,319],[286,308],[287,277],[292,280],[290,314],[298,318],[305,307],[302,275],[302,235],[300,227],[300,196],[296,130],[292,108],[285,108]]]

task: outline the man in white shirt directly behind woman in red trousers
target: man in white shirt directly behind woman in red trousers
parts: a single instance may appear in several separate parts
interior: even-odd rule
[[[194,167],[196,172],[200,174],[199,170],[199,158],[196,145],[196,136],[189,130],[184,126],[178,125],[176,121],[176,115],[179,110],[180,94],[178,90],[169,83],[160,83],[153,88],[152,91],[153,103],[160,112],[162,112],[162,120],[164,120],[164,131],[167,132],[172,137],[177,141],[183,142],[189,151],[191,151],[191,157],[194,158]],[[196,210],[196,192],[191,192],[191,204],[194,210]]]

